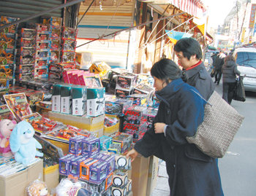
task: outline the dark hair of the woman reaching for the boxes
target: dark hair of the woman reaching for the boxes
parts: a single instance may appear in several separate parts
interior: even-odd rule
[[[169,79],[174,80],[182,77],[181,69],[173,60],[168,58],[163,58],[157,63],[154,63],[150,72],[152,77],[162,79],[167,84],[169,83]]]

